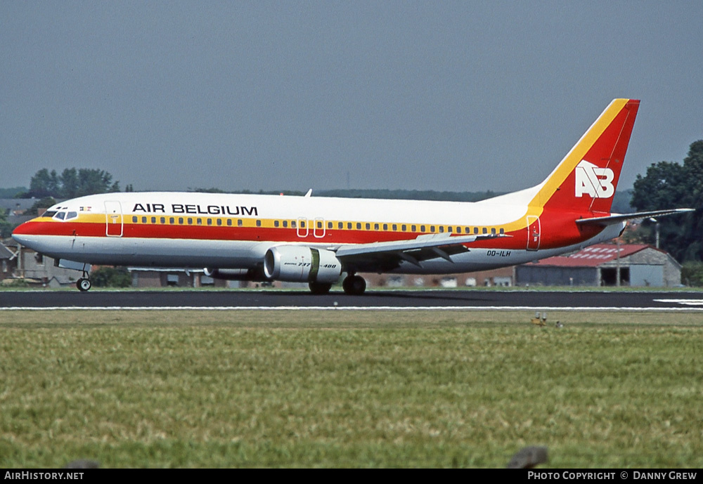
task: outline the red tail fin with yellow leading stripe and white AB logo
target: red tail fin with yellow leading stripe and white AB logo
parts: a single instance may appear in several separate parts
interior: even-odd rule
[[[613,100],[542,183],[531,205],[610,214],[639,105],[639,100]]]

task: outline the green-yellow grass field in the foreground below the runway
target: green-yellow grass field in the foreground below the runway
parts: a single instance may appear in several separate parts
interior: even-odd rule
[[[0,312],[0,467],[703,466],[701,313],[531,316]]]

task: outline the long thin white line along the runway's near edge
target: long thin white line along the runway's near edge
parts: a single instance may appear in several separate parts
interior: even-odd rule
[[[664,299],[654,300],[657,302],[673,302],[675,300]],[[671,307],[671,308],[622,308],[622,307],[590,307],[590,306],[48,306],[45,308],[39,307],[21,307],[13,306],[9,308],[0,308],[4,311],[44,311],[44,310],[355,310],[355,311],[390,311],[390,310],[452,310],[452,311],[524,311],[524,310],[543,310],[543,311],[624,311],[631,313],[645,312],[703,312],[703,301],[700,300],[685,300],[680,301],[698,301],[695,306],[701,307]],[[678,302],[678,301],[676,301]]]

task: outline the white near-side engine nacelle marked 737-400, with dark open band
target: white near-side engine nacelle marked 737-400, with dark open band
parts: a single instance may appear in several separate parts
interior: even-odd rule
[[[264,256],[264,275],[287,282],[334,284],[342,274],[342,263],[333,251],[304,245],[271,247]]]

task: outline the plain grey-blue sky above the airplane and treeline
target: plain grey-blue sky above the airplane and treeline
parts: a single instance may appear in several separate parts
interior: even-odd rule
[[[517,190],[613,98],[620,189],[703,138],[703,2],[0,2],[0,188]],[[347,178],[348,177],[348,178]]]

